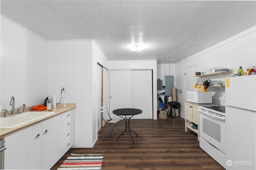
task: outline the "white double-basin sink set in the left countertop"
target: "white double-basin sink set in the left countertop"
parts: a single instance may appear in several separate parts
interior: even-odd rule
[[[10,129],[54,114],[54,111],[28,111],[11,117],[0,118],[0,129]]]

